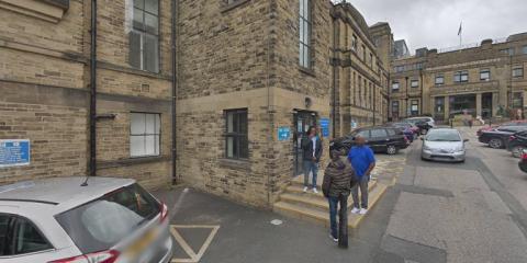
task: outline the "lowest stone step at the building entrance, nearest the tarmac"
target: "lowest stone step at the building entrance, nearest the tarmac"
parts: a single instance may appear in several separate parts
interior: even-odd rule
[[[370,208],[372,208],[381,198],[381,196],[386,191],[388,186],[379,184],[370,192]],[[326,202],[327,203],[327,202]],[[313,221],[316,224],[322,224],[326,227],[329,227],[329,214],[326,208],[322,209],[319,206],[303,206],[299,203],[291,203],[288,201],[280,201],[274,204],[273,210],[278,214],[299,218],[307,221]],[[351,228],[357,228],[361,220],[367,215],[355,215],[349,214],[348,216],[348,226]]]

